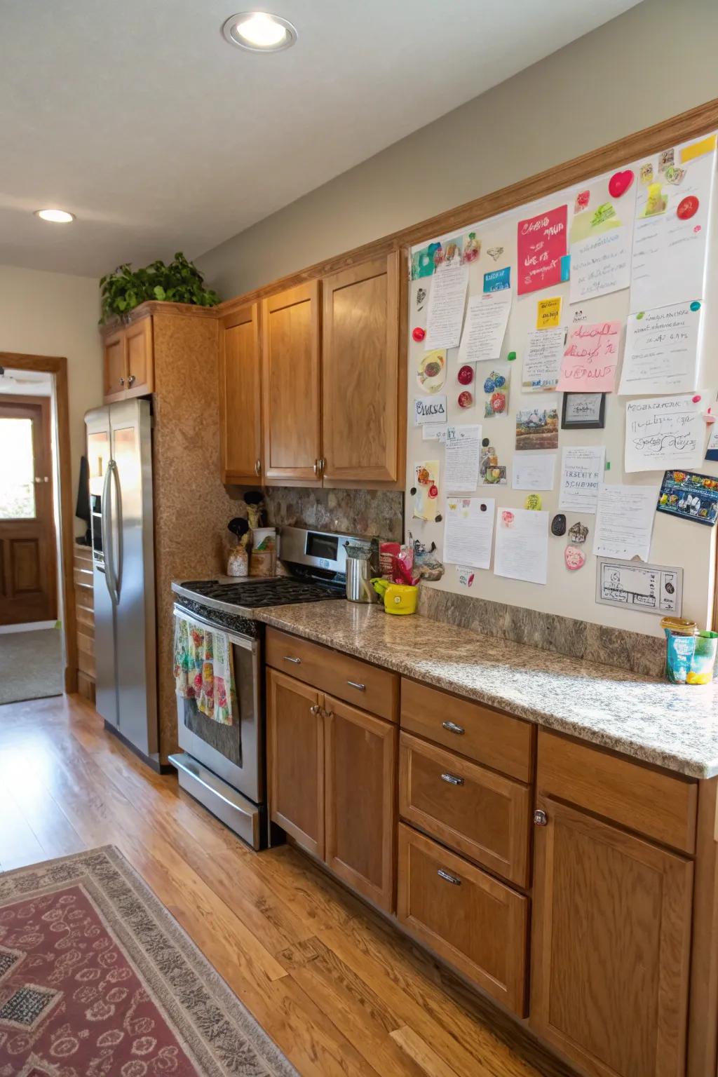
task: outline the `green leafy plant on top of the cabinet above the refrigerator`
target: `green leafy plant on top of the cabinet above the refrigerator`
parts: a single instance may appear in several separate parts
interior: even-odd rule
[[[216,292],[205,288],[205,278],[194,262],[189,262],[181,251],[169,265],[152,262],[144,269],[117,266],[114,272],[101,278],[100,296],[101,322],[112,318],[125,320],[130,310],[147,299],[189,303],[196,307],[214,307],[220,302]]]

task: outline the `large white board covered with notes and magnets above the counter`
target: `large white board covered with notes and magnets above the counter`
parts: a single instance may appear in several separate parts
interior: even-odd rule
[[[446,562],[441,581],[423,586],[662,634],[660,616],[640,605],[596,601],[596,515],[589,510],[596,489],[585,478],[600,471],[606,485],[636,488],[619,499],[614,531],[621,537],[632,514],[637,527],[642,505],[653,494],[658,503],[665,460],[718,478],[718,461],[704,460],[704,414],[716,412],[718,391],[715,170],[716,138],[707,136],[411,249],[406,537],[436,543],[441,559],[446,537],[456,561],[477,550],[470,571]],[[564,386],[613,391],[603,406],[599,396],[569,397],[573,418],[586,414],[591,424],[563,429]],[[627,470],[627,405],[657,400],[630,410]],[[475,426],[491,450],[481,444],[476,486]],[[449,445],[447,428],[455,434]],[[577,507],[560,509],[564,449],[585,451],[569,458],[575,481],[566,496]],[[459,498],[485,501],[484,516],[471,503],[457,523]],[[684,500],[680,491],[674,498]],[[539,504],[532,510],[546,515],[527,519],[525,506]],[[512,533],[502,536],[498,568],[508,572],[498,575],[503,512]],[[555,535],[560,513],[566,533]],[[682,615],[704,627],[717,528],[689,513],[689,503],[682,516],[651,513],[648,547],[636,531],[635,550],[651,565],[682,569]],[[571,538],[577,523],[588,528],[582,544]],[[490,567],[480,567],[487,559]],[[522,559],[534,563],[522,568]]]

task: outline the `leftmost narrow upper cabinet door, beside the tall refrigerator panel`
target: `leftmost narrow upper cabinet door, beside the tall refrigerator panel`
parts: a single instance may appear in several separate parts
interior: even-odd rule
[[[251,303],[220,324],[220,437],[223,482],[262,478],[259,307]]]

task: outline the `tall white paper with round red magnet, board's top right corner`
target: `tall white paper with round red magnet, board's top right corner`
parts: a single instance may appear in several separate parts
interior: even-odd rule
[[[675,162],[679,166],[679,150]],[[659,164],[657,155],[639,166],[639,171],[650,168],[652,176],[650,182],[640,184],[636,202],[632,313],[704,297],[715,151],[680,165],[682,174],[674,183],[667,182]]]

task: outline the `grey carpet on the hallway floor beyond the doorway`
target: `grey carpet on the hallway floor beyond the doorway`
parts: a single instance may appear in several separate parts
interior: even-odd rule
[[[0,703],[61,696],[64,690],[59,628],[0,634]]]

